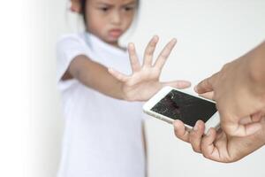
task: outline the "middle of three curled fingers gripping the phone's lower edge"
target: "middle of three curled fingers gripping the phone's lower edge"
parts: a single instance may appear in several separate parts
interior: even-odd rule
[[[204,133],[204,123],[198,120],[190,132],[190,141],[195,152],[201,153],[201,139]]]

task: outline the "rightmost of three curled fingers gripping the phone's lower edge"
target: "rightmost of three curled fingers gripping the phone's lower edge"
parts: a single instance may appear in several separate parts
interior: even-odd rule
[[[213,159],[216,156],[216,146],[214,144],[216,140],[216,130],[210,128],[206,136],[201,140],[201,152],[205,158]]]

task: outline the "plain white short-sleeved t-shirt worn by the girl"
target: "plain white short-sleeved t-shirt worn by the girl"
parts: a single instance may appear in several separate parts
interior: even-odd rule
[[[144,177],[141,104],[104,96],[75,79],[62,81],[72,59],[79,55],[131,73],[128,53],[94,35],[65,35],[57,42],[57,83],[65,118],[57,176]]]

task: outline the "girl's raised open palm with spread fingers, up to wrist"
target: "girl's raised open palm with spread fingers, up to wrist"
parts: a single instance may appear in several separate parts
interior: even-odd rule
[[[129,57],[133,73],[131,75],[125,75],[119,73],[116,70],[110,68],[109,72],[118,81],[122,82],[122,91],[127,101],[146,101],[155,93],[162,89],[163,86],[171,86],[178,89],[185,89],[190,87],[189,81],[159,81],[160,74],[163,69],[167,58],[170,55],[171,50],[176,45],[177,40],[172,39],[163,48],[158,58],[155,60],[153,65],[153,55],[155,51],[156,43],[158,42],[158,36],[154,36],[148,43],[148,46],[144,53],[143,64],[140,65],[140,61],[137,58],[135,47],[133,43],[129,43]]]

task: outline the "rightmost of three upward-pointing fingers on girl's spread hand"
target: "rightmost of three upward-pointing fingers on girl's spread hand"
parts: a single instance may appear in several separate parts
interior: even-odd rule
[[[168,44],[163,48],[162,52],[159,54],[158,58],[155,61],[155,67],[162,70],[163,65],[165,64],[167,58],[170,56],[171,50],[176,45],[177,40],[172,39]]]

